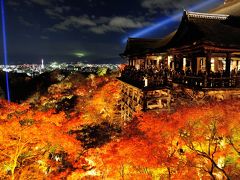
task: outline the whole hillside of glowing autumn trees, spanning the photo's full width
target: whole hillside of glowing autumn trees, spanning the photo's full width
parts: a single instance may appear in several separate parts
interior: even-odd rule
[[[0,177],[238,179],[238,101],[122,122],[119,86],[111,76],[70,74],[21,104],[1,100]]]

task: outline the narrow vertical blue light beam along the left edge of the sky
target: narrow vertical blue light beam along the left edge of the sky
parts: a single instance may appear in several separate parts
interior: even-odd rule
[[[7,58],[7,34],[6,34],[6,23],[5,23],[5,11],[4,11],[4,0],[1,0],[1,12],[2,12],[2,34],[3,34],[3,56],[4,56],[4,65],[8,65]],[[8,72],[6,71],[6,91],[7,91],[7,100],[10,102],[10,88],[9,88],[9,78]]]

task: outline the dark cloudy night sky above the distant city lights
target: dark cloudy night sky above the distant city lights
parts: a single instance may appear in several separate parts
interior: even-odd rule
[[[5,0],[9,63],[120,63],[124,38],[204,1]],[[144,37],[162,38],[177,27],[173,22]]]

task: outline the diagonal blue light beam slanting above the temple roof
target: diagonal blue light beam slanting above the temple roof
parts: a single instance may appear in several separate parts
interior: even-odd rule
[[[202,9],[202,8],[204,8],[206,6],[209,6],[209,5],[213,4],[213,3],[216,3],[218,1],[220,1],[220,0],[207,0],[207,1],[204,1],[203,3],[200,3],[200,4],[196,5],[196,6],[193,6],[192,8],[189,8],[189,11],[200,10],[200,9]],[[139,32],[131,34],[130,37],[133,37],[133,38],[142,37],[142,36],[152,32],[152,31],[154,31],[154,30],[156,30],[156,29],[158,29],[160,27],[163,27],[163,26],[168,25],[169,23],[171,23],[173,21],[176,21],[176,20],[180,19],[181,17],[182,17],[182,12],[174,14],[173,16],[171,16],[171,17],[169,17],[169,18],[167,18],[167,19],[165,19],[165,20],[163,20],[161,22],[158,22],[158,23],[156,23],[156,24],[154,24],[154,25],[152,25],[150,27],[147,27],[147,28],[145,28],[145,29],[143,29],[143,30],[141,30]],[[127,40],[128,40],[128,37],[125,37],[122,42],[126,43]]]

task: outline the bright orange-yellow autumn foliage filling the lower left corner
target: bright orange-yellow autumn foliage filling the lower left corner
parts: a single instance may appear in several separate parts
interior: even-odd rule
[[[6,117],[0,121],[1,177],[44,179],[83,161],[81,143],[61,129],[66,120],[62,113],[32,111],[4,101],[0,112]],[[64,165],[65,161],[72,165]]]

